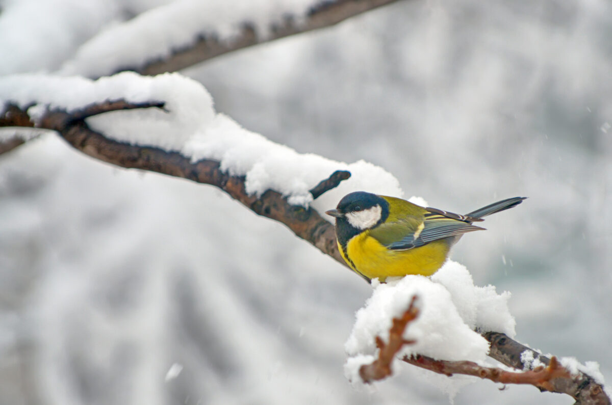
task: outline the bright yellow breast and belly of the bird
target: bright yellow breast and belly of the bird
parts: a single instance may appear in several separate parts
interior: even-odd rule
[[[389,250],[365,231],[348,241],[346,254],[340,246],[338,248],[353,270],[384,281],[387,277],[407,274],[432,275],[446,261],[450,245],[446,239],[441,239],[414,249]]]

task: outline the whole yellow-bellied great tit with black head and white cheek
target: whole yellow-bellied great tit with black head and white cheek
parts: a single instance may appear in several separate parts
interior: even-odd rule
[[[515,207],[526,197],[502,199],[466,215],[421,207],[401,198],[355,191],[335,209],[340,255],[356,273],[371,281],[417,274],[430,276],[446,262],[450,248],[483,217]]]

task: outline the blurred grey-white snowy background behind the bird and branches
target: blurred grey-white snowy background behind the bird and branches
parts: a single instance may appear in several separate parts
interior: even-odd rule
[[[0,0],[2,73],[57,69],[168,2]],[[610,384],[611,37],[605,0],[400,1],[182,73],[245,128],[383,166],[430,206],[529,196],[452,257],[512,292],[518,340],[598,361]],[[348,384],[343,343],[370,293],[214,188],[53,135],[0,156],[0,404],[448,403],[407,365]],[[573,403],[498,388],[455,403]]]

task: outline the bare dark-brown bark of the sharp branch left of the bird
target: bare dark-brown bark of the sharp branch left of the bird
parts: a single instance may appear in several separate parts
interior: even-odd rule
[[[240,201],[255,214],[271,218],[285,224],[296,236],[315,245],[326,255],[345,264],[338,253],[334,227],[321,218],[312,208],[291,205],[281,193],[267,190],[261,196],[247,193],[244,176],[231,176],[223,171],[221,163],[212,159],[201,159],[192,163],[189,158],[168,152],[157,147],[132,146],[108,139],[95,132],[84,122],[84,118],[110,111],[132,110],[136,108],[161,108],[163,103],[127,103],[125,100],[99,103],[67,113],[65,110],[50,110],[37,120],[38,128],[57,131],[70,145],[84,154],[113,165],[130,169],[142,169],[183,177],[198,183],[210,184]],[[34,122],[28,112],[10,105],[0,116],[0,127],[32,127]],[[10,138],[17,139],[17,138]],[[337,171],[330,179],[322,180],[313,188],[313,195],[335,187],[346,179],[346,171]]]

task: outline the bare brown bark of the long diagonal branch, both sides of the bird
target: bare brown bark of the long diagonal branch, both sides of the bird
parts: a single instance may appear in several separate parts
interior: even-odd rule
[[[228,193],[232,198],[240,201],[248,209],[255,212],[255,214],[283,223],[296,236],[307,240],[307,242],[323,253],[346,266],[343,259],[341,259],[340,253],[338,253],[334,227],[324,220],[316,210],[312,208],[305,209],[301,206],[291,206],[287,203],[286,198],[283,198],[280,193],[274,190],[267,190],[260,197],[248,195],[245,190],[245,177],[230,176],[224,173],[220,169],[220,162],[215,160],[203,159],[192,163],[189,158],[177,152],[167,152],[157,147],[134,146],[113,141],[89,128],[84,121],[86,117],[108,111],[150,107],[163,108],[163,103],[131,104],[124,100],[114,100],[86,106],[81,110],[71,111],[71,113],[62,110],[47,111],[47,113],[40,117],[36,127],[57,131],[70,145],[81,150],[84,154],[116,166],[155,171],[157,173],[168,174],[169,176],[182,177],[195,182],[214,185]],[[27,108],[22,109],[15,105],[8,106],[8,108],[0,113],[0,127],[34,127],[34,123],[31,121],[27,110]],[[348,178],[348,172],[335,172],[329,179],[323,180],[311,190],[313,198],[336,187],[345,178]],[[409,320],[405,322],[407,325]],[[482,332],[482,335],[491,343],[490,357],[504,365],[523,370],[524,364],[521,362],[521,353],[525,350],[531,351],[531,349],[510,339],[503,333]],[[402,344],[405,343],[405,341],[402,342]],[[404,360],[442,374],[478,374],[477,376],[479,377],[493,379],[493,381],[502,383],[517,383],[512,381],[512,379],[516,381],[523,379],[525,381],[523,384],[532,384],[533,381],[539,381],[541,386],[537,386],[540,388],[566,393],[577,399],[578,403],[581,404],[610,404],[610,398],[605,395],[602,386],[597,384],[588,375],[578,373],[578,376],[561,376],[558,371],[558,365],[553,364],[551,366],[553,360],[547,359],[534,351],[532,351],[532,354],[534,354],[534,358],[540,359],[548,367],[543,370],[525,372],[531,374],[513,373],[523,375],[521,377],[514,376],[512,373],[504,374],[509,372],[500,369],[482,368],[475,365],[475,363],[470,364],[469,362],[443,362],[442,360],[434,360],[424,356]],[[485,375],[482,376],[481,374]],[[546,376],[550,376],[550,378],[546,380],[544,378]],[[551,385],[545,384],[548,382]]]

